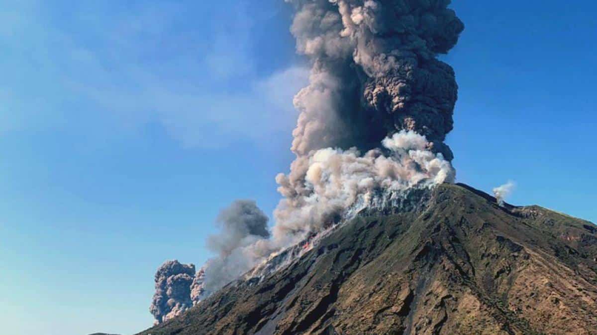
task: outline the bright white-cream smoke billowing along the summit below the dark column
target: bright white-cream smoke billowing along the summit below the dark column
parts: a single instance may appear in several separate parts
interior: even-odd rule
[[[356,148],[312,151],[300,194],[295,194],[291,176],[276,176],[280,193],[294,196],[282,199],[274,213],[274,237],[317,232],[359,197],[368,199],[375,191],[399,192],[454,181],[456,171],[450,162],[441,153],[429,151],[422,135],[401,131],[382,144],[386,150],[364,154]]]

